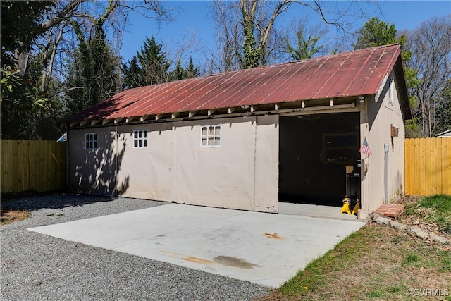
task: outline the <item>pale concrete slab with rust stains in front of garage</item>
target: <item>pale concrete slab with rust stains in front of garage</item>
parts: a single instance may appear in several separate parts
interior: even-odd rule
[[[168,204],[28,230],[276,288],[364,224]]]

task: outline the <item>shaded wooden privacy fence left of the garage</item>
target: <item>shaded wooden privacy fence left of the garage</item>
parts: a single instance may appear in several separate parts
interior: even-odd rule
[[[66,142],[1,140],[1,192],[66,190]]]

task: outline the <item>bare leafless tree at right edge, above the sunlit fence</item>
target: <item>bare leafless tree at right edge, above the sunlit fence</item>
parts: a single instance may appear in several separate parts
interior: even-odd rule
[[[406,47],[412,53],[407,61],[409,68],[418,70],[419,83],[411,87],[410,94],[416,99],[415,116],[421,125],[421,133],[432,137],[437,129],[435,113],[441,113],[435,107],[440,99],[440,108],[445,109],[440,91],[451,78],[451,15],[431,18],[420,27],[406,32]],[[443,122],[443,118],[440,118]]]

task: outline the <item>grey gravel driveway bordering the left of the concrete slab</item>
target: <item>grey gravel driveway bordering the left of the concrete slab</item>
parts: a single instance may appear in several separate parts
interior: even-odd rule
[[[2,202],[3,209],[32,216],[0,226],[0,300],[252,300],[268,293],[245,281],[27,231],[164,204],[86,195]]]

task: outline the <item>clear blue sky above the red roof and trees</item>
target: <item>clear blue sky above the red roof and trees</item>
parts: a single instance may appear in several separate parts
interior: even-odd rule
[[[451,1],[378,1],[380,11],[376,6],[363,4],[369,17],[376,16],[381,20],[395,24],[398,31],[412,30],[419,27],[422,22],[432,17],[446,16],[451,13]],[[137,14],[129,17],[131,23],[125,30],[121,56],[128,61],[142,47],[145,37],[154,35],[156,42],[163,44],[170,58],[178,56],[178,51],[186,44],[192,44],[190,52],[183,53],[187,58],[191,55],[199,56],[200,51],[216,50],[216,30],[214,19],[209,9],[209,1],[163,1],[168,8],[180,8],[174,14],[173,22],[162,22],[145,19]],[[338,1],[338,6],[347,5],[346,1]],[[276,20],[278,26],[283,26],[298,16],[311,17],[312,24],[321,22],[314,11],[304,6],[293,5],[290,11]],[[382,15],[381,15],[382,13]],[[366,19],[355,19],[355,28],[360,28]],[[194,44],[193,44],[194,40]],[[197,53],[197,54],[196,54]],[[201,63],[202,58],[194,59]],[[196,62],[195,62],[196,63]]]

